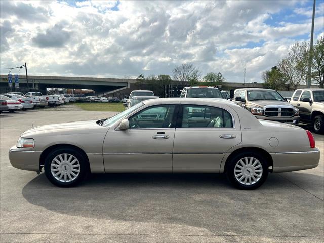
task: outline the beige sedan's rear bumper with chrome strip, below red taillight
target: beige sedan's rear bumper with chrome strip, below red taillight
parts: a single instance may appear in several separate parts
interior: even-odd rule
[[[315,148],[307,152],[270,153],[273,160],[273,173],[299,171],[318,166],[320,152]]]

